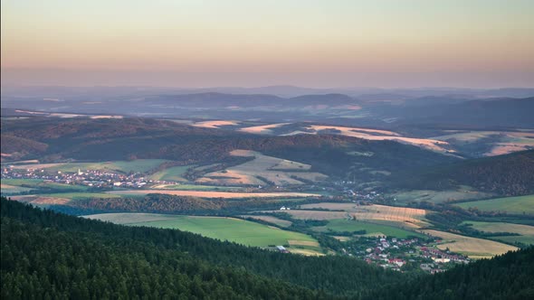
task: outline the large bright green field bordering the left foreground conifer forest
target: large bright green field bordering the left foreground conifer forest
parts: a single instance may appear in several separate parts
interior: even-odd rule
[[[185,230],[212,239],[229,240],[254,247],[291,245],[290,241],[297,244],[312,243],[313,245],[319,245],[316,239],[302,233],[274,229],[253,221],[234,218],[175,216],[151,213],[105,213],[86,216],[86,218],[108,220],[130,226]]]

